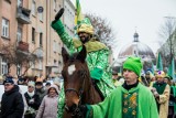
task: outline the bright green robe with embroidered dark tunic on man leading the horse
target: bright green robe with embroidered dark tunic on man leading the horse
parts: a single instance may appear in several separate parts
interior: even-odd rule
[[[117,87],[102,103],[88,105],[88,109],[87,118],[158,118],[153,94],[140,83],[130,90]]]

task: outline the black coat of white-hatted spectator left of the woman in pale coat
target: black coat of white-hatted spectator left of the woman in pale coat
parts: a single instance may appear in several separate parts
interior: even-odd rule
[[[40,96],[34,94],[32,97],[28,94],[28,92],[24,94],[25,100],[28,106],[32,107],[33,109],[37,110],[41,101],[40,101]],[[34,99],[33,103],[30,103],[31,99]]]

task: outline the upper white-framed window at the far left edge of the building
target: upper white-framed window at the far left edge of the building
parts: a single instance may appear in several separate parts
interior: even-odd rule
[[[2,36],[9,37],[9,21],[2,18]]]

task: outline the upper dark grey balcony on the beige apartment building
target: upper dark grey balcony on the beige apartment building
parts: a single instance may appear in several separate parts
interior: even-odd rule
[[[30,13],[31,10],[25,9],[23,7],[18,7],[18,13],[16,13],[16,19],[20,23],[22,24],[30,24]]]

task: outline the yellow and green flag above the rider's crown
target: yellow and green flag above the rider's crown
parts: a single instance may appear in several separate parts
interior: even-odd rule
[[[79,22],[84,20],[84,15],[81,13],[81,7],[79,0],[76,0],[76,15],[75,15],[75,25],[79,24]]]

